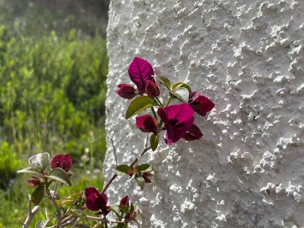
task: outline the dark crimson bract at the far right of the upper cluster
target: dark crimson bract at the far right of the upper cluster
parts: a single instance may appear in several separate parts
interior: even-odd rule
[[[188,104],[194,112],[202,116],[205,116],[214,107],[214,103],[205,96],[202,96],[200,92],[190,93]]]

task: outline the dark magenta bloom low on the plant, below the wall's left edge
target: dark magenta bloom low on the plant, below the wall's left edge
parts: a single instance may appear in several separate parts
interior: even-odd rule
[[[103,192],[99,193],[96,188],[90,187],[85,189],[85,205],[87,209],[91,211],[99,211],[106,216],[110,211],[111,207],[107,206],[108,197]]]

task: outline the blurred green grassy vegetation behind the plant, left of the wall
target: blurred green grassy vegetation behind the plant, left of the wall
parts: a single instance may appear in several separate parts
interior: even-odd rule
[[[0,0],[0,227],[26,218],[34,188],[16,171],[34,154],[71,154],[75,185],[62,195],[103,185],[108,4]]]

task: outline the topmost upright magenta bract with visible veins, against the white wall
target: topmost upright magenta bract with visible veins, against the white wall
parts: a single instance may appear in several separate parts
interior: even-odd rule
[[[139,93],[144,94],[147,81],[154,81],[152,65],[147,60],[135,57],[128,68],[131,81],[137,86]]]

